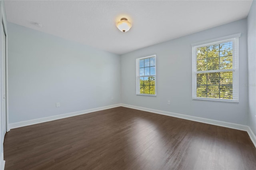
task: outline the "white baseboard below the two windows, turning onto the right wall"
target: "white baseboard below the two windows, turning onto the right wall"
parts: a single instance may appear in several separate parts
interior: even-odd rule
[[[252,140],[252,143],[256,147],[256,136],[252,132],[252,129],[250,127],[246,126],[246,125],[240,125],[240,124],[236,124],[236,123],[228,123],[228,122],[223,122],[223,121],[216,121],[216,120],[212,120],[212,119],[206,119],[206,118],[201,118],[201,117],[194,117],[194,116],[189,116],[189,115],[182,115],[182,114],[178,114],[178,113],[160,111],[160,110],[155,110],[155,109],[148,109],[148,108],[145,108],[145,107],[126,105],[126,104],[123,104],[123,103],[121,103],[120,105],[122,107],[128,107],[128,108],[131,108],[131,109],[137,109],[137,110],[141,110],[141,111],[157,113],[157,114],[160,114],[160,115],[167,115],[167,116],[171,116],[171,117],[187,119],[187,120],[190,120],[190,121],[207,123],[207,124],[210,124],[210,125],[216,125],[216,126],[221,126],[221,127],[227,127],[227,128],[243,130],[243,131],[246,131],[248,133],[248,135],[250,136],[250,138]]]

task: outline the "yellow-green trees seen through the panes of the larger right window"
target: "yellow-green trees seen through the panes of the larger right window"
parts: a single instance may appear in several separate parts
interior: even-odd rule
[[[232,42],[197,48],[197,97],[233,99]]]

